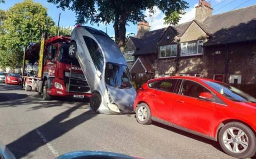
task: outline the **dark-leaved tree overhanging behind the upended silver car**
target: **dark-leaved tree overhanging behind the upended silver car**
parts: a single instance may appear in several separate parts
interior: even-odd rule
[[[127,22],[145,21],[146,9],[153,14],[157,6],[166,15],[166,24],[177,24],[188,3],[183,0],[47,0],[57,7],[75,11],[77,23],[114,23],[115,41],[121,51],[125,45]]]

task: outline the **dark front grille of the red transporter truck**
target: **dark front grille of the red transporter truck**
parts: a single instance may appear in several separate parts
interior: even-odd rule
[[[67,73],[65,73],[67,74]],[[68,74],[69,75],[69,74]],[[65,85],[66,85],[66,91],[68,92],[79,92],[79,93],[91,93],[90,87],[88,86],[88,83],[85,78],[74,78],[74,77],[84,77],[84,74],[80,73],[72,73],[71,72],[71,78],[70,78],[70,86],[69,86],[69,77],[65,76]]]

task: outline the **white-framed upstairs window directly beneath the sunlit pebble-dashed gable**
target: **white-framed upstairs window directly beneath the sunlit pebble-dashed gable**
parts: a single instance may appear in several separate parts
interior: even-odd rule
[[[181,56],[203,54],[203,40],[181,43]]]

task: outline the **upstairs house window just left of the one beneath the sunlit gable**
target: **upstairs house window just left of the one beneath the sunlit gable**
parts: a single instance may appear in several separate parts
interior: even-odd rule
[[[177,56],[177,44],[160,46],[160,58]]]

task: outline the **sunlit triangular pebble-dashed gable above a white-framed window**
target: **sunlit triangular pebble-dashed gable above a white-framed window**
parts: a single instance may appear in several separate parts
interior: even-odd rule
[[[195,23],[195,21],[193,21],[180,37],[180,42],[183,43],[199,39],[206,39],[207,37],[209,37],[207,33],[205,33],[204,30],[197,23]]]

